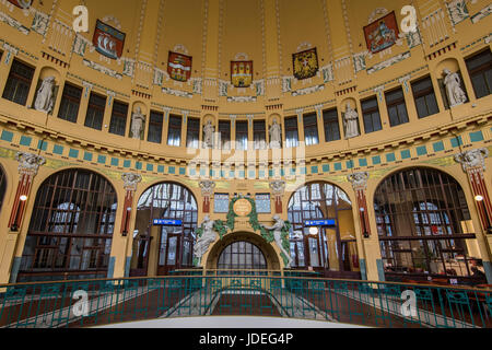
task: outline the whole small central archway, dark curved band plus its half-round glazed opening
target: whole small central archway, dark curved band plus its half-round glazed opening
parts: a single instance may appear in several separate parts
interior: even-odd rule
[[[234,253],[231,250],[231,255],[226,257],[227,249],[236,249]],[[239,252],[241,249],[241,252]],[[248,250],[249,249],[249,250]],[[235,267],[232,255],[236,255],[238,261],[238,266]],[[256,259],[256,261],[260,262],[261,257],[265,259],[263,264],[250,264],[251,269],[268,269],[268,270],[280,270],[280,260],[279,257],[271,246],[271,244],[267,243],[260,235],[250,233],[250,232],[233,232],[226,234],[222,240],[218,241],[211,248],[208,254],[206,268],[207,270],[215,270],[215,269],[248,269],[246,268],[246,256]],[[254,258],[256,255],[256,258]],[[242,256],[242,257],[239,257]],[[224,257],[221,261],[221,257]],[[243,259],[244,260],[239,260]],[[230,259],[230,260],[229,260]],[[244,264],[239,262],[244,261]],[[230,265],[230,266],[226,266]],[[243,266],[243,267],[241,267]],[[265,266],[265,268],[263,268]]]

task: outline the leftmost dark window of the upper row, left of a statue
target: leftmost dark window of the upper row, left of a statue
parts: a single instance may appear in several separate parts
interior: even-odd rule
[[[25,106],[33,75],[34,68],[14,59],[3,90],[3,98]]]

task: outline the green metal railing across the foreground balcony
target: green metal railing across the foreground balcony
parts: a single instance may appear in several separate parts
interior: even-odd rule
[[[490,289],[226,272],[4,284],[0,327],[87,327],[199,315],[273,315],[371,327],[492,327]],[[405,291],[415,296],[413,310],[402,310]]]

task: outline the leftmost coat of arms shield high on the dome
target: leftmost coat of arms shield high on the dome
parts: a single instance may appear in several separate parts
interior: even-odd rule
[[[101,55],[118,59],[122,55],[125,36],[125,33],[97,20],[92,43]]]

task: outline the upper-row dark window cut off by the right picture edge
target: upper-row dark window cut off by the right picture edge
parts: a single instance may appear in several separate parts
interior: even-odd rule
[[[466,60],[477,98],[492,94],[492,54],[490,49]]]

